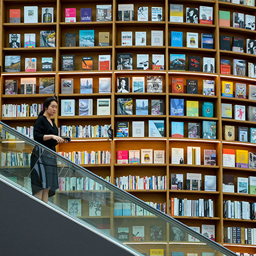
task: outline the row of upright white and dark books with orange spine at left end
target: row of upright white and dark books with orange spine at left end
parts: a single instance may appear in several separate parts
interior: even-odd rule
[[[214,217],[212,199],[170,199],[170,216]]]

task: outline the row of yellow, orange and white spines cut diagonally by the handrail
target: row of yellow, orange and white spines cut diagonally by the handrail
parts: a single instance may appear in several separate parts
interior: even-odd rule
[[[72,151],[72,152],[58,152],[64,158],[71,160],[76,164],[110,164],[111,152],[108,150],[91,151]]]

